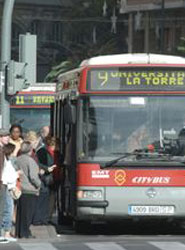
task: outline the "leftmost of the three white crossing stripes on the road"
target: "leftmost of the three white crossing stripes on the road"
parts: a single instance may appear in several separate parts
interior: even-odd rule
[[[19,243],[23,250],[57,250],[50,243]]]

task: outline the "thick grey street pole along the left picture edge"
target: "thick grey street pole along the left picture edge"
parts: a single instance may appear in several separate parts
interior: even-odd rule
[[[15,0],[5,0],[1,32],[1,72],[5,76],[5,67],[11,60],[12,12]],[[10,107],[6,96],[5,80],[1,81],[1,119],[0,127],[10,126]]]

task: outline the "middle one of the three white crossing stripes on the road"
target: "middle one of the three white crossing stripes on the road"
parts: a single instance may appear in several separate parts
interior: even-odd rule
[[[120,245],[113,242],[92,242],[85,243],[92,250],[126,250]]]

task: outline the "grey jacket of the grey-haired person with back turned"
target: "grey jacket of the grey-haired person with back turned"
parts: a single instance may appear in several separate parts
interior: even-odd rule
[[[31,156],[23,154],[17,158],[17,168],[23,171],[20,176],[22,193],[38,195],[41,181],[36,161]]]

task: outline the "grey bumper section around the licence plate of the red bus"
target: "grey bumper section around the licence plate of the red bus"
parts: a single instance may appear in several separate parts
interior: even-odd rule
[[[98,188],[98,187],[96,187]],[[87,187],[86,187],[87,189]],[[151,190],[155,196],[151,197]],[[78,200],[77,219],[79,220],[115,220],[132,218],[185,218],[185,187],[105,187],[103,199]],[[132,207],[170,208],[172,213],[132,213]]]

